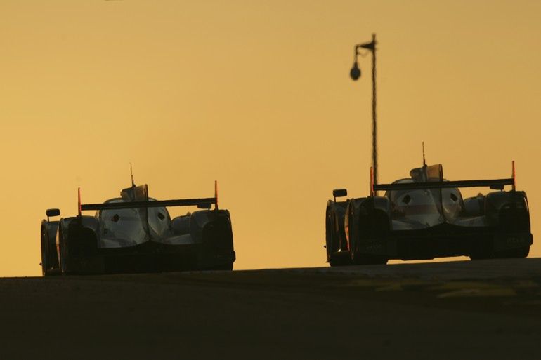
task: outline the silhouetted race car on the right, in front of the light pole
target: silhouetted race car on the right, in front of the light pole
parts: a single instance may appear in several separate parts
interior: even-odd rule
[[[410,178],[374,185],[370,196],[327,202],[327,262],[331,266],[385,264],[389,259],[422,260],[466,255],[526,258],[533,244],[526,193],[512,177],[448,181],[440,164],[410,171]],[[511,185],[511,191],[503,191]],[[461,187],[500,191],[462,199]],[[377,196],[384,190],[384,196]]]

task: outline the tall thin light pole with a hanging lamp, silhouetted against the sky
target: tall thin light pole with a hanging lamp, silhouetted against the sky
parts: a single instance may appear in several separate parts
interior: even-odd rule
[[[372,168],[374,172],[374,184],[377,184],[377,124],[376,124],[376,34],[372,34],[370,43],[357,44],[355,46],[355,55],[353,57],[353,67],[349,76],[354,81],[360,78],[360,69],[357,62],[360,48],[372,51]],[[377,192],[375,192],[377,195]]]

